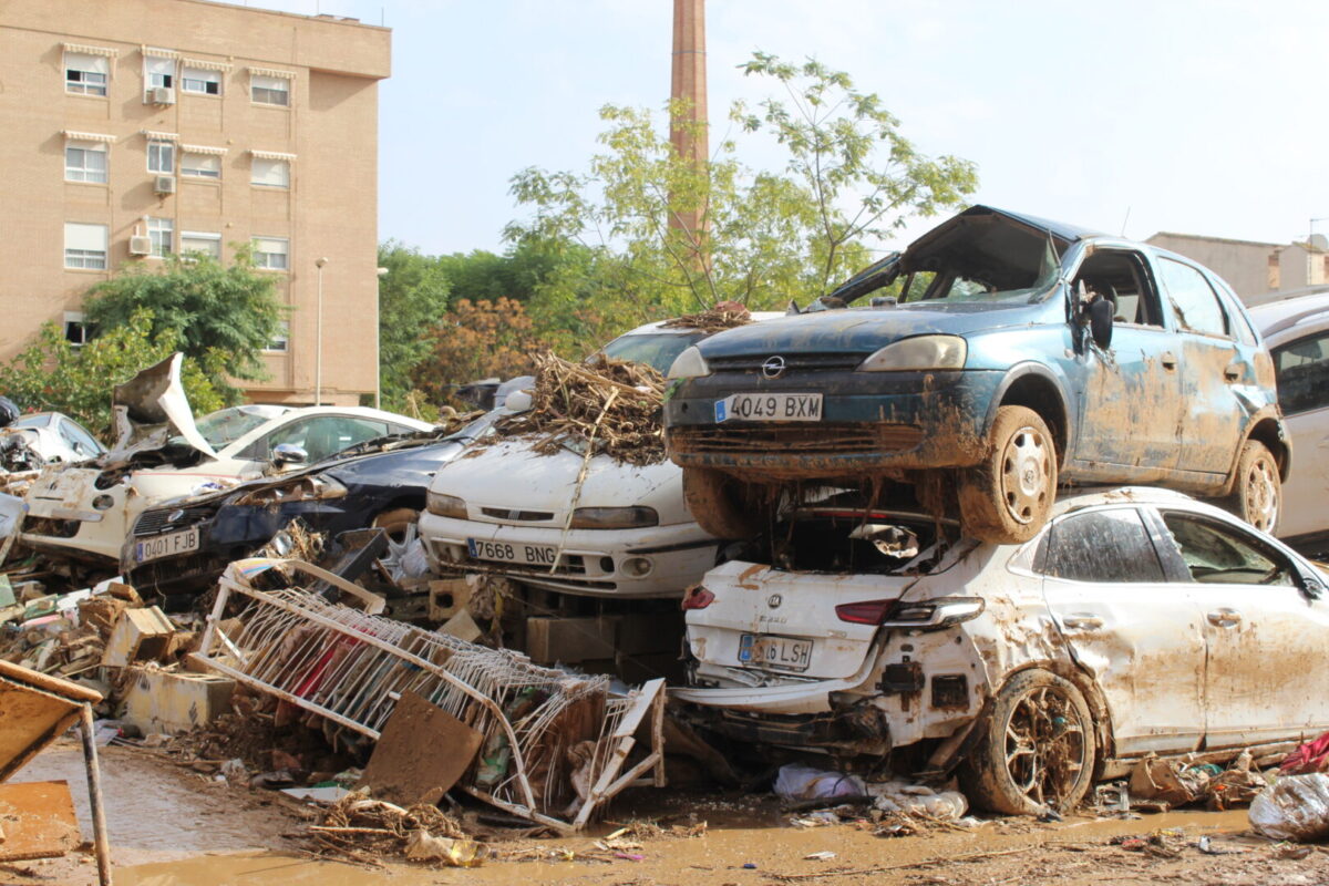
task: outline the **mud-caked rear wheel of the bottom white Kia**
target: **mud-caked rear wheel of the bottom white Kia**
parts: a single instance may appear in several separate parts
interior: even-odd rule
[[[1011,816],[1067,813],[1094,781],[1094,716],[1070,680],[1022,671],[993,699],[960,776],[974,805]]]

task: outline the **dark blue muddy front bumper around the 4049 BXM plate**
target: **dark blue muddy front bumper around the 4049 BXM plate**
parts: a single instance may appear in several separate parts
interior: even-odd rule
[[[1002,379],[983,369],[687,379],[671,387],[664,404],[670,458],[767,481],[966,468],[985,454],[989,408]],[[747,392],[821,393],[821,420],[715,421],[718,400]]]

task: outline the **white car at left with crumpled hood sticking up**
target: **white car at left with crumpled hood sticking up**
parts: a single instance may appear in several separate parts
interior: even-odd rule
[[[116,449],[92,466],[51,465],[28,487],[20,535],[27,546],[114,566],[129,527],[158,501],[432,428],[363,406],[233,406],[195,424],[179,387],[179,355],[145,369],[116,395]]]

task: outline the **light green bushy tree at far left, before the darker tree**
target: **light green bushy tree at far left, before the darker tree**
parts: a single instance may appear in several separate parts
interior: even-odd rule
[[[140,308],[77,347],[47,323],[17,357],[0,365],[0,391],[23,409],[62,412],[113,444],[112,389],[179,349],[177,331],[154,332],[154,325],[152,311]],[[181,365],[181,384],[195,414],[225,405],[213,373],[190,357]]]

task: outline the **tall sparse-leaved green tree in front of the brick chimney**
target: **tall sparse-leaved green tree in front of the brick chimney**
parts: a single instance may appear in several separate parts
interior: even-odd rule
[[[610,105],[601,112],[605,150],[586,173],[513,177],[530,217],[509,224],[506,238],[574,243],[587,256],[558,266],[537,290],[537,327],[575,327],[581,317],[603,335],[722,300],[752,308],[808,300],[865,264],[890,231],[975,189],[971,163],[920,154],[848,74],[766,53],[743,69],[780,97],[755,110],[736,104],[738,135],[704,163],[679,157],[649,112]],[[784,167],[747,167],[739,137],[773,138]],[[690,211],[702,214],[706,235],[670,227]]]

